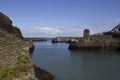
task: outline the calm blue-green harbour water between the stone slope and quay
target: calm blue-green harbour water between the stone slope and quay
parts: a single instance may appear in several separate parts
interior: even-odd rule
[[[55,80],[120,80],[119,52],[68,50],[69,44],[34,42],[32,60]]]

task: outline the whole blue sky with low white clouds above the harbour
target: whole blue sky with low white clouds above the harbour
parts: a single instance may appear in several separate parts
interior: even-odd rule
[[[111,30],[120,22],[120,0],[0,0],[24,37],[83,35]]]

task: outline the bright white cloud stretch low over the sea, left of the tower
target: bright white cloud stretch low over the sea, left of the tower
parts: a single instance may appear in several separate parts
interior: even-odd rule
[[[80,27],[31,27],[29,29],[24,29],[23,33],[28,34],[39,34],[39,35],[51,35],[51,36],[81,36]]]

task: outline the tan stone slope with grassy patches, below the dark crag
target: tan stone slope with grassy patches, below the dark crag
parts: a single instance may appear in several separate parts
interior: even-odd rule
[[[32,74],[34,68],[29,57],[28,44],[28,42],[19,39],[15,35],[0,29],[0,80],[15,78],[21,80],[25,77],[28,79],[28,75],[31,75],[28,80],[30,78],[35,79],[35,75]],[[9,73],[9,71],[13,71],[13,73]],[[4,77],[4,75],[6,76]]]

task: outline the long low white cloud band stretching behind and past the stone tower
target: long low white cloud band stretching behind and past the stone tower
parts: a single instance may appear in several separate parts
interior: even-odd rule
[[[90,34],[103,32],[104,26],[93,24],[93,25],[81,25],[77,27],[31,27],[23,30],[25,36],[82,36],[84,29],[89,29]]]

